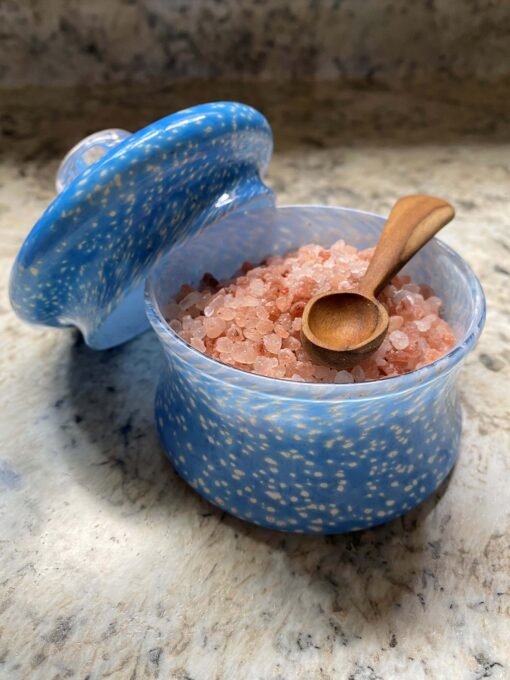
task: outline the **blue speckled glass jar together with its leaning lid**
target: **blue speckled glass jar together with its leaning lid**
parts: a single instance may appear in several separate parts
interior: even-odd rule
[[[243,261],[310,242],[368,247],[383,226],[382,217],[354,210],[275,208],[261,180],[271,148],[263,116],[233,102],[181,111],[133,135],[84,140],[18,254],[12,305],[26,321],[79,328],[94,349],[121,344],[150,322],[166,357],[156,395],[162,445],[215,505],[285,531],[374,526],[420,503],[455,463],[457,379],[483,326],[483,292],[437,240],[413,258],[406,271],[443,299],[458,341],[397,378],[276,380],[194,350],[165,320],[182,283],[197,284],[206,271],[229,277]]]

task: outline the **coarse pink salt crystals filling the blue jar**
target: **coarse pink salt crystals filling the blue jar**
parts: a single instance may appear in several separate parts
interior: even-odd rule
[[[301,316],[313,295],[353,288],[373,249],[337,241],[310,244],[219,283],[205,274],[195,290],[183,285],[167,308],[170,327],[209,356],[245,371],[299,382],[348,384],[413,371],[443,356],[455,343],[440,318],[441,300],[426,284],[397,276],[380,301],[389,315],[381,347],[350,371],[314,364],[303,350]]]

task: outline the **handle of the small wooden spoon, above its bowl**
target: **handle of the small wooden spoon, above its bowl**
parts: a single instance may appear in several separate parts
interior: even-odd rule
[[[419,194],[400,198],[393,206],[358,290],[377,296],[454,215],[455,210],[449,203],[434,196]]]

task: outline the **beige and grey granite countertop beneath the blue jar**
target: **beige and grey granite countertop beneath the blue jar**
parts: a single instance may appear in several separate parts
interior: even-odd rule
[[[462,83],[3,92],[0,677],[510,677],[508,95]],[[158,444],[152,333],[93,352],[10,310],[12,259],[65,151],[222,98],[270,119],[280,203],[387,213],[428,192],[457,207],[443,238],[488,299],[461,379],[460,460],[433,498],[378,529],[292,536],[222,514]]]

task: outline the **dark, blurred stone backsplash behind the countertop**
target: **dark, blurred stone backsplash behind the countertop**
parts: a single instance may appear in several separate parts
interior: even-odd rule
[[[510,75],[505,2],[46,0],[0,26],[0,86]]]

